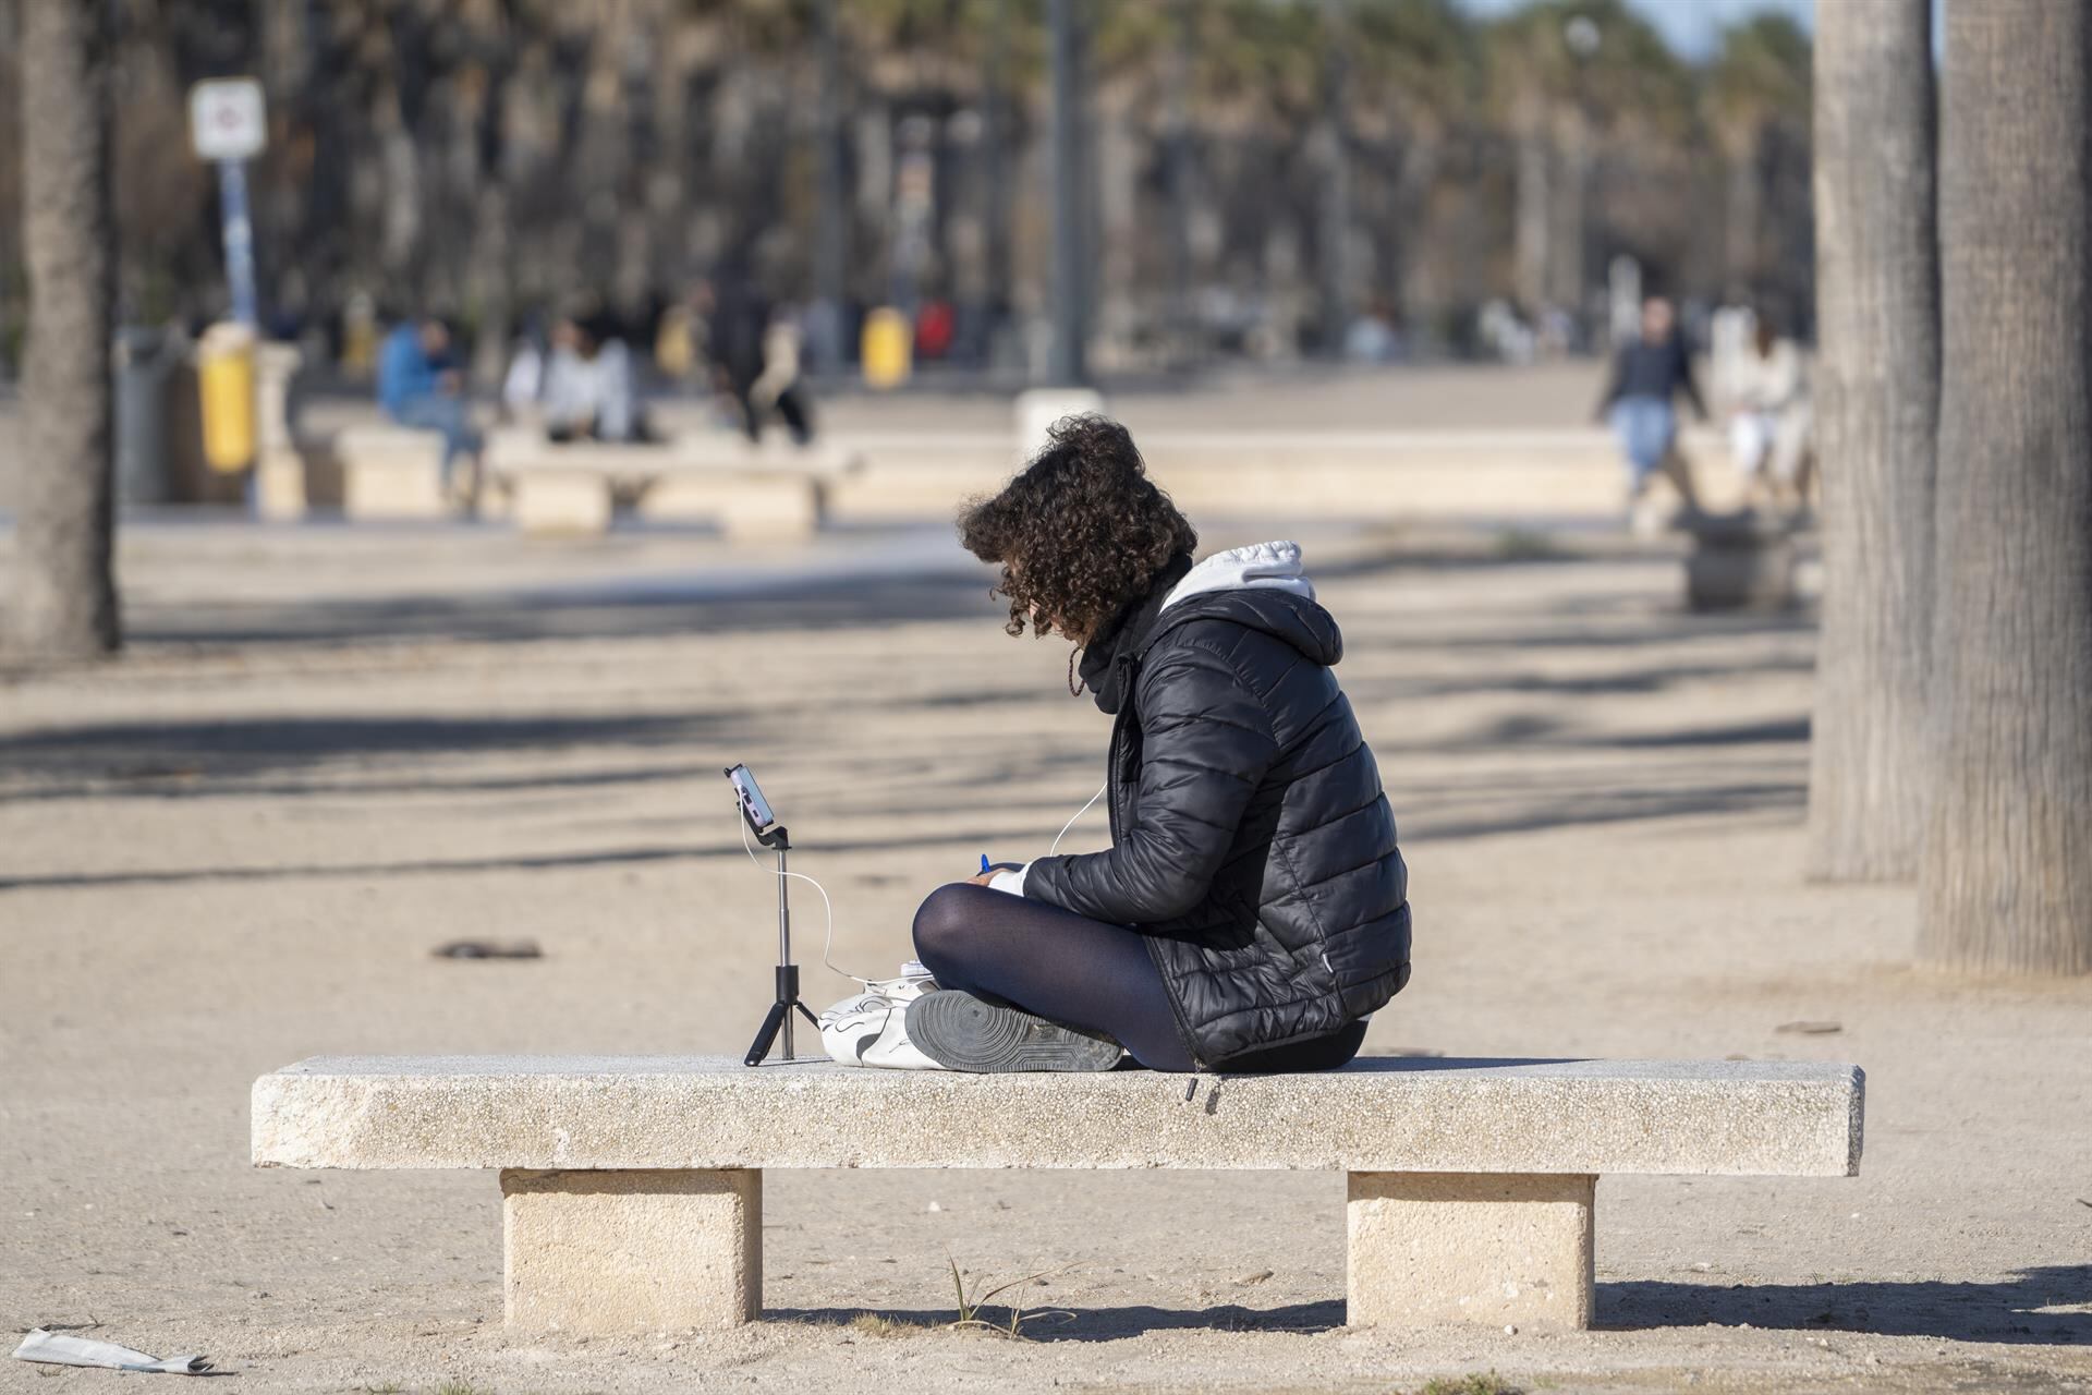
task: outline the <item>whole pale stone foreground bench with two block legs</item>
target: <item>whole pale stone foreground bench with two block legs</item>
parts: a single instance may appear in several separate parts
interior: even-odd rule
[[[1349,1173],[1349,1322],[1592,1320],[1602,1173],[1845,1177],[1856,1067],[1358,1060],[1326,1075],[948,1075],[724,1056],[318,1056],[259,1167],[500,1169],[517,1328],[761,1316],[766,1167]]]

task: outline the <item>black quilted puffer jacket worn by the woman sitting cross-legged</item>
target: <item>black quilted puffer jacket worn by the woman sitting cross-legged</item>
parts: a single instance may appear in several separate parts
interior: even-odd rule
[[[1169,609],[1155,594],[1109,650],[1092,686],[1117,709],[1113,847],[1040,857],[1025,895],[1140,929],[1199,1069],[1393,998],[1410,977],[1408,872],[1331,673],[1343,638],[1328,611],[1284,590]]]

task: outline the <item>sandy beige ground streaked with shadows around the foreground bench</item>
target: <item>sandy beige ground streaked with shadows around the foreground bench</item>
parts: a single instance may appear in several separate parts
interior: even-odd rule
[[[1607,1177],[1598,1330],[1506,1334],[1347,1330],[1335,1175],[772,1173],[770,1322],[508,1339],[492,1175],[253,1171],[249,1081],[738,1052],[772,885],[724,763],[835,895],[835,960],[887,973],[929,887],[1044,851],[1105,717],[937,531],[155,527],[130,657],[0,684],[0,1332],[270,1391],[2092,1389],[2092,983],[1914,973],[1906,889],[1801,881],[1807,617],[1688,617],[1674,558],[1602,544],[1305,542],[1414,876],[1368,1050],[1856,1060],[1858,1180]],[[820,924],[801,897],[810,962]],[[546,958],[429,956],[460,935]],[[1025,1299],[1069,1316],[845,1326],[948,1322],[948,1257],[1050,1270]],[[0,1391],[119,1380],[0,1359]]]

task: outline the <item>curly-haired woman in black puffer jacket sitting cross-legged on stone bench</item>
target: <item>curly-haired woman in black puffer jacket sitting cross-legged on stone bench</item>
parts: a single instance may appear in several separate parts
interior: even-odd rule
[[[1299,548],[1192,567],[1197,533],[1125,427],[1069,416],[960,542],[1002,565],[1008,634],[1075,642],[1113,717],[1111,849],[939,887],[914,918],[937,987],[864,1065],[1320,1071],[1410,977],[1408,872],[1331,667]],[[1094,801],[1092,801],[1094,803]]]

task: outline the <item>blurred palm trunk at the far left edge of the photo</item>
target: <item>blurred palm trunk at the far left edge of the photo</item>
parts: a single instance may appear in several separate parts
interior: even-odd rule
[[[21,29],[29,345],[8,638],[33,659],[117,646],[111,571],[109,6],[27,4]]]

